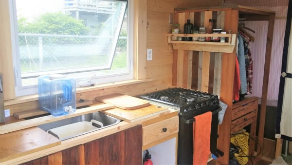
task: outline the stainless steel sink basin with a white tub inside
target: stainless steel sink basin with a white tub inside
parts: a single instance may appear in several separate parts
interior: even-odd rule
[[[118,124],[120,121],[120,119],[104,113],[93,112],[52,123],[41,124],[38,127],[63,141]]]

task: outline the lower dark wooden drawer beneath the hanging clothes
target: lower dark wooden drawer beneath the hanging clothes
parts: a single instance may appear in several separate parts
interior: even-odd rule
[[[256,122],[256,116],[257,116],[257,110],[254,110],[244,116],[242,116],[241,118],[238,118],[235,121],[231,122],[231,131],[230,133],[235,133],[236,131],[238,131],[239,129],[252,124],[253,122]]]

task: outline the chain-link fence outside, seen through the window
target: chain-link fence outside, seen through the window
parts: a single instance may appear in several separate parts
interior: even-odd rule
[[[127,50],[127,37],[120,37],[117,48],[111,37],[18,34],[22,73],[101,68],[112,62],[110,54]]]

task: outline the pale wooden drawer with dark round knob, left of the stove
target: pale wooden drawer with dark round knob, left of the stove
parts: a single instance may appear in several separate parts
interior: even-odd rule
[[[179,131],[179,117],[175,116],[143,127],[143,145],[150,144]]]

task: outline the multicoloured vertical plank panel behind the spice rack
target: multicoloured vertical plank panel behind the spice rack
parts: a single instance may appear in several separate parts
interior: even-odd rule
[[[224,29],[225,11],[177,12],[175,23],[183,24],[191,20],[194,27],[207,27],[209,19],[216,20],[213,27]],[[220,94],[221,53],[174,50],[173,85]]]

